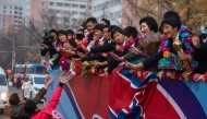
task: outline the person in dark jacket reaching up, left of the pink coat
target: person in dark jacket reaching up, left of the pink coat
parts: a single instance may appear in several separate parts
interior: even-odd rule
[[[51,79],[33,98],[33,100],[38,104],[44,95],[47,92],[47,88],[49,85],[53,82],[53,79]],[[10,109],[11,109],[11,119],[24,119],[24,117],[27,116],[27,114],[24,111],[24,105],[25,102],[23,98],[20,98],[16,93],[12,94],[9,98],[10,103]]]

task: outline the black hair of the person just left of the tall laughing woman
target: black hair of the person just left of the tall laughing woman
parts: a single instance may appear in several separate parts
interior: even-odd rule
[[[135,27],[133,26],[127,26],[123,29],[123,34],[127,37],[132,36],[133,38],[137,37],[138,32]]]

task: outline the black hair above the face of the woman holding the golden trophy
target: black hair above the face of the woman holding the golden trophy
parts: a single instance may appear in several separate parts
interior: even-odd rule
[[[171,25],[173,28],[178,27],[179,31],[182,25],[182,22],[176,12],[168,11],[163,14],[163,21],[161,22],[161,24]]]

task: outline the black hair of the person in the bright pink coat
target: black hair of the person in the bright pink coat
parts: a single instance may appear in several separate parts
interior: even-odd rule
[[[28,116],[35,114],[36,109],[37,109],[37,105],[35,104],[33,99],[28,99],[24,105],[24,110],[26,114],[28,114]]]

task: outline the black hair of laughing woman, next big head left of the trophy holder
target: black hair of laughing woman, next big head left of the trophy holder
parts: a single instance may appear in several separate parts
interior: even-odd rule
[[[139,25],[142,23],[144,23],[144,22],[148,25],[148,27],[149,27],[150,31],[154,31],[155,33],[158,32],[158,25],[157,25],[157,22],[156,22],[156,20],[154,17],[151,17],[151,16],[144,16],[143,19],[141,19]]]

